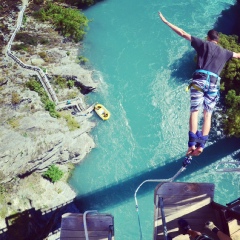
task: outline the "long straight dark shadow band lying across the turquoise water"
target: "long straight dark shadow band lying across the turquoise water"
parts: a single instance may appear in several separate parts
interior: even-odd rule
[[[239,149],[240,139],[229,138],[221,139],[215,144],[206,147],[204,152],[199,157],[194,157],[192,164],[187,167],[180,176],[184,177],[188,174],[192,174],[197,170],[200,170],[209,165],[209,163],[216,162],[225,156],[232,154]],[[88,194],[78,196],[75,199],[76,206],[80,212],[84,212],[89,209],[101,209],[108,208],[109,206],[121,205],[122,202],[126,202],[132,199],[134,201],[134,192],[137,187],[147,179],[168,179],[173,177],[182,166],[184,157],[179,159],[173,159],[170,163],[156,169],[151,169],[146,172],[142,172],[139,175],[132,176],[116,184],[100,188],[96,191]],[[160,159],[159,159],[160,160]],[[154,191],[158,183],[144,184],[138,192],[139,195],[144,195],[150,191]]]

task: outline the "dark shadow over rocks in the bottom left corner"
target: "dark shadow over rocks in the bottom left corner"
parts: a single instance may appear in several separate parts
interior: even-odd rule
[[[1,240],[42,240],[60,230],[64,213],[79,213],[72,201],[48,210],[31,208],[5,218],[6,228],[0,229]]]

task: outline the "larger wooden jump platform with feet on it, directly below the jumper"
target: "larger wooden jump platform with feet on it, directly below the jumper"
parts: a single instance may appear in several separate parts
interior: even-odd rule
[[[208,220],[213,221],[221,229],[219,217],[210,206],[214,196],[214,184],[211,183],[178,183],[159,184],[155,189],[154,240],[164,240],[160,198],[163,199],[167,232],[173,240],[187,240],[178,229],[178,219],[189,222],[191,229],[206,233],[213,239],[212,232],[204,227]]]

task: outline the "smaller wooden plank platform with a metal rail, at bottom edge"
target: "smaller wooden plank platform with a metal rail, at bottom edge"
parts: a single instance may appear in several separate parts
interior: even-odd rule
[[[62,216],[60,240],[83,240],[84,214],[66,213]],[[89,240],[114,240],[114,218],[110,214],[86,215]],[[112,235],[112,237],[110,237]]]

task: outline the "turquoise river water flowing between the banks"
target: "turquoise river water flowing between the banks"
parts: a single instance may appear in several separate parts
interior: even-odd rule
[[[195,66],[194,51],[159,20],[157,12],[204,38],[234,2],[105,0],[85,11],[92,22],[83,54],[101,82],[87,101],[102,103],[111,118],[101,121],[93,116],[96,148],[77,166],[70,184],[78,193],[81,211],[114,215],[116,240],[139,239],[136,188],[146,179],[172,177],[187,149],[189,93],[185,88]],[[239,175],[219,174],[215,167],[239,157],[240,141],[222,138],[216,121],[210,135],[204,153],[176,181],[214,182],[215,201],[225,204],[239,196]],[[137,195],[146,240],[152,239],[156,185],[146,183]]]

